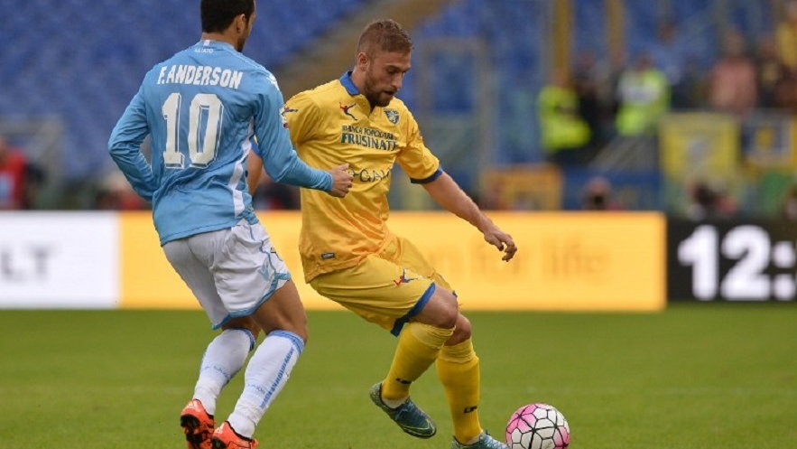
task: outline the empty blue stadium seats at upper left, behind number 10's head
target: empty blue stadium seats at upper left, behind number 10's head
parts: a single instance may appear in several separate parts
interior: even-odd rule
[[[287,60],[369,0],[270,0],[246,54]],[[188,7],[187,7],[188,5]],[[107,138],[146,70],[199,40],[198,3],[183,0],[0,0],[0,115],[60,114],[67,179],[112,164]],[[12,12],[10,14],[9,12]],[[35,17],[35,26],[31,18]]]

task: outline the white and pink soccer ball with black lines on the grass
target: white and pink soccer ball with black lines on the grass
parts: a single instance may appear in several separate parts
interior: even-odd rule
[[[506,425],[509,449],[565,449],[570,426],[559,410],[548,404],[520,407]]]

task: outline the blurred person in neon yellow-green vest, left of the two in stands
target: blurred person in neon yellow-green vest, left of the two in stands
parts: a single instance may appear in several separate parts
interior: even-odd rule
[[[568,76],[557,71],[538,98],[542,148],[551,164],[586,164],[589,127],[579,117],[579,98]]]

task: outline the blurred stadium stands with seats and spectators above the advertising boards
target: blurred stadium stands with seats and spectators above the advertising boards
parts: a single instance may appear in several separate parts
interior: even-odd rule
[[[0,209],[147,209],[107,138],[144,73],[199,39],[199,2],[0,8]],[[288,98],[388,16],[415,44],[399,98],[484,209],[797,220],[797,1],[259,0],[245,53]],[[433,209],[399,171],[394,209]],[[255,206],[298,192],[266,176]]]

